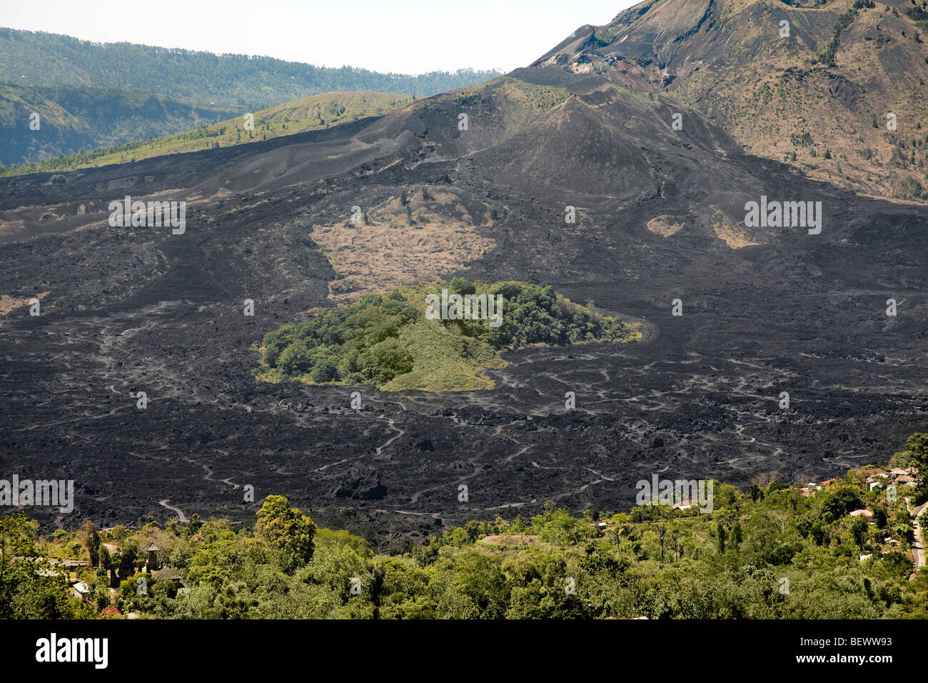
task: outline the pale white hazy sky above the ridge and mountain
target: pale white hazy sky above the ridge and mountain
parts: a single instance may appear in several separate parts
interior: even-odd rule
[[[3,0],[0,26],[379,72],[525,66],[632,0]]]

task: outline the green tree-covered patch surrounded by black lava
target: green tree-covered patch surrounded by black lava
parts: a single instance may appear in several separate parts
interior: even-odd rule
[[[430,320],[426,297],[445,289],[485,296],[503,308],[496,320]],[[526,282],[451,282],[367,295],[264,335],[261,379],[308,384],[374,384],[385,391],[468,391],[494,386],[483,374],[500,354],[532,345],[637,341],[637,323],[600,315]]]

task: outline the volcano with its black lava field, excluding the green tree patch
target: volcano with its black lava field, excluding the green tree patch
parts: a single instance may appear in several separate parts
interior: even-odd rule
[[[99,523],[253,519],[251,485],[402,546],[548,499],[623,509],[659,472],[885,460],[928,425],[928,52],[917,6],[882,7],[649,0],[386,116],[0,178],[4,464],[73,479]],[[186,230],[111,227],[126,196],[184,202]],[[746,220],[761,197],[820,230]],[[522,348],[482,391],[255,376],[281,324],[452,276],[553,285],[643,338]]]

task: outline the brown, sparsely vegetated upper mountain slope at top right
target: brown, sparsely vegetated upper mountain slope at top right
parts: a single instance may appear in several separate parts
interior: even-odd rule
[[[528,71],[661,92],[745,151],[862,194],[928,200],[924,33],[926,0],[646,0]]]

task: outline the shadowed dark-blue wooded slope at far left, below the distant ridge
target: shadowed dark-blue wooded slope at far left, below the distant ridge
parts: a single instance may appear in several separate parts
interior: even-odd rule
[[[0,164],[25,164],[187,130],[237,111],[194,106],[139,90],[0,84]],[[37,130],[30,127],[32,121],[38,122]]]

